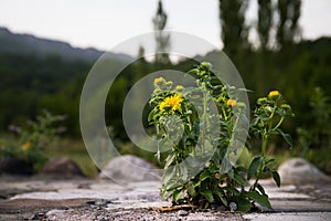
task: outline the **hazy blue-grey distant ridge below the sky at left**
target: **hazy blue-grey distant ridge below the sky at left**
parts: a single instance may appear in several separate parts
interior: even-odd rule
[[[17,34],[12,33],[7,28],[0,28],[0,53],[33,54],[40,57],[56,54],[61,59],[67,61],[82,60],[94,62],[104,53],[104,51],[93,48],[73,48],[65,42],[41,39],[31,34]],[[109,53],[109,55],[117,60],[130,59],[130,56],[126,54]]]

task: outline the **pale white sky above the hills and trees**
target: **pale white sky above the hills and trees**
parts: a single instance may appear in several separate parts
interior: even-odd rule
[[[163,0],[167,29],[196,35],[222,48],[218,0]],[[158,0],[0,0],[0,27],[17,33],[65,41],[73,46],[111,51],[152,31]],[[257,3],[250,0],[249,23]],[[331,0],[302,0],[303,39],[331,36]]]

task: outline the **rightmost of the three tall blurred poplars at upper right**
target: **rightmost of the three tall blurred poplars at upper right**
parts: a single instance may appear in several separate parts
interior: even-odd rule
[[[280,49],[292,44],[300,35],[298,21],[301,0],[278,0],[279,22],[277,27],[277,43]]]

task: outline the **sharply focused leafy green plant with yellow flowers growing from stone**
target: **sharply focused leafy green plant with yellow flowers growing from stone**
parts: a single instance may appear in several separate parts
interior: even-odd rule
[[[248,133],[247,107],[239,101],[245,88],[235,88],[217,78],[210,63],[201,63],[188,72],[196,78],[196,87],[173,87],[163,77],[154,80],[148,120],[160,138],[157,158],[164,159],[161,194],[174,204],[191,203],[200,208],[222,204],[228,210],[249,211],[257,202],[271,208],[260,177],[271,172],[278,186],[279,175],[269,168],[266,156],[270,137],[276,134],[291,143],[279,128],[291,116],[279,92],[258,99],[250,129],[261,137],[261,154],[249,167],[232,165],[231,156],[246,146],[241,134]],[[247,190],[248,180],[256,178]]]

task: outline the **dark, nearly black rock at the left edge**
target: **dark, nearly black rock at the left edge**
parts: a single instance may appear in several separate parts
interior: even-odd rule
[[[29,176],[33,173],[33,168],[31,164],[17,157],[3,157],[0,158],[0,173]]]

